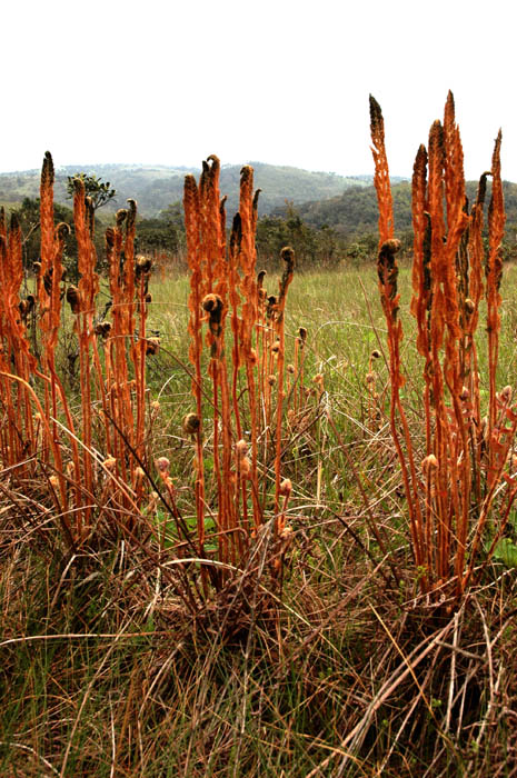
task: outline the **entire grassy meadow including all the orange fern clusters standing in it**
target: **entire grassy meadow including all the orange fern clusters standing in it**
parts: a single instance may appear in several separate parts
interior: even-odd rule
[[[360,267],[262,275],[252,170],[227,232],[217,158],[188,268],[135,255],[129,202],[96,272],[78,181],[64,281],[49,154],[36,271],[2,220],[1,775],[516,775],[500,140],[467,211],[449,97],[398,265],[371,116]]]

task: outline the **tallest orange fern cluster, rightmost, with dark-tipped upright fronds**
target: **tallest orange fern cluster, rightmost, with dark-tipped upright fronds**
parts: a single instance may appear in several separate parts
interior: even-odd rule
[[[401,395],[399,242],[394,238],[384,120],[374,98],[370,118],[379,203],[377,267],[388,330],[390,429],[406,491],[414,561],[422,592],[458,597],[483,568],[479,551],[488,526],[491,531],[485,561],[505,530],[517,496],[511,457],[517,407],[511,387],[496,390],[505,225],[501,134],[495,143],[491,171],[481,176],[470,209],[450,92],[444,121],[434,122],[427,149],[420,146],[416,157],[411,312],[417,321],[417,350],[424,360],[421,452],[420,438],[412,435]],[[491,196],[486,251],[483,230],[488,176]],[[480,401],[476,338],[484,296],[488,338],[486,416]]]

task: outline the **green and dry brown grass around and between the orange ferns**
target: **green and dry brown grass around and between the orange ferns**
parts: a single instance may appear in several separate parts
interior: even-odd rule
[[[516,269],[505,275],[500,386],[514,383],[516,367]],[[421,367],[402,278],[405,400],[417,428]],[[187,279],[157,280],[152,293],[153,450],[173,463],[188,516]],[[259,579],[246,607],[237,589],[189,616],[146,548],[117,535],[62,557],[38,495],[29,505],[4,479],[0,775],[515,774],[514,571],[496,558],[455,614],[417,600],[382,357],[374,406],[366,380],[371,351],[386,350],[374,268],[298,276],[288,348],[300,326],[315,396],[310,423],[292,428],[284,455],[294,543],[268,607],[257,605]],[[66,359],[70,343],[61,346]]]

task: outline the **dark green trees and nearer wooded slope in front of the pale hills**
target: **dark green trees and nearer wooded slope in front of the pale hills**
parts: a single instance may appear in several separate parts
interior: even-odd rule
[[[96,211],[96,249],[102,270],[105,229],[112,220],[102,218],[100,209],[116,203],[117,191],[110,182],[96,176],[78,173],[86,184]],[[68,193],[72,196],[73,178],[68,178]],[[505,182],[507,209],[504,258],[517,258],[517,184]],[[474,200],[476,183],[467,184],[467,194]],[[411,187],[405,181],[392,187],[397,236],[401,239],[402,255],[412,250]],[[488,198],[487,198],[488,199]],[[39,259],[39,199],[26,197],[16,209],[23,235],[23,257],[28,268]],[[230,216],[230,215],[229,215]],[[70,281],[77,280],[77,246],[71,208],[54,205],[56,223],[70,226],[64,267]],[[257,225],[257,255],[262,267],[277,265],[285,246],[292,246],[300,268],[335,267],[341,261],[361,265],[377,251],[377,202],[372,187],[356,187],[341,197],[296,206],[286,202],[282,209],[259,218]],[[170,203],[156,217],[139,218],[136,249],[139,253],[161,252],[185,261],[186,239],[183,210],[180,201]]]

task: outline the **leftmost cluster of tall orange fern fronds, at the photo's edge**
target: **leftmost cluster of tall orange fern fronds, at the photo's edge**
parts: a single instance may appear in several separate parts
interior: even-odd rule
[[[0,449],[3,466],[18,478],[29,478],[43,468],[67,538],[77,543],[89,535],[95,509],[108,495],[111,511],[120,509],[127,517],[139,512],[140,460],[148,458],[145,359],[149,340],[145,326],[150,263],[135,258],[136,203],[130,202],[107,232],[113,321],[96,321],[99,278],[93,207],[83,182],[77,179],[73,217],[80,280],[66,290],[80,361],[81,411],[72,413],[56,365],[63,313],[62,257],[70,228],[64,223],[54,227],[53,181],[47,152],[40,188],[40,261],[34,295],[24,299],[21,231],[16,216],[9,230],[3,212],[0,218],[0,272],[8,290],[0,301],[0,401],[7,422],[1,428]],[[39,325],[38,356],[31,352],[28,338],[31,312]],[[137,325],[138,341],[133,337]],[[103,411],[102,455],[96,448],[99,441],[93,441],[93,407]]]

